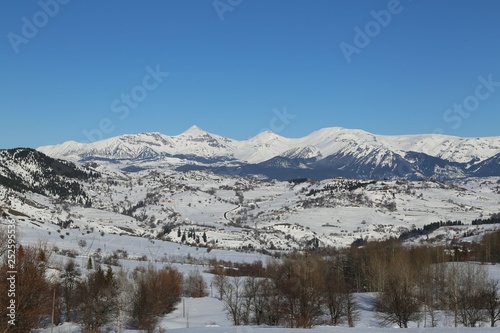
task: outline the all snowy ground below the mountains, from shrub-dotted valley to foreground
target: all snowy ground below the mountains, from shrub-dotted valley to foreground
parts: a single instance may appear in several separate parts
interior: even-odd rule
[[[5,198],[8,194],[8,208],[19,213],[15,220],[21,244],[46,242],[49,248],[56,246],[59,250],[73,250],[80,264],[96,252],[106,255],[118,250],[126,251],[128,259],[120,259],[125,270],[132,271],[136,266],[145,266],[150,262],[156,262],[158,267],[170,263],[182,273],[199,270],[210,285],[212,276],[205,272],[207,267],[194,265],[193,259],[199,259],[200,263],[211,259],[248,263],[257,260],[266,263],[269,260],[268,256],[251,248],[247,252],[229,248],[251,246],[269,249],[272,245],[278,249],[293,249],[303,246],[313,237],[317,237],[321,245],[348,246],[355,239],[398,236],[402,230],[446,220],[461,220],[469,225],[439,228],[430,238],[446,242],[456,235],[473,231],[475,235],[467,239],[472,240],[498,227],[471,226],[470,223],[481,216],[487,218],[492,213],[498,213],[499,184],[498,177],[466,179],[455,184],[366,181],[363,186],[347,190],[347,187],[356,185],[356,181],[328,179],[295,185],[201,171],[145,171],[104,176],[92,184],[85,184],[92,195],[92,208],[65,205],[38,194],[21,196],[7,193],[3,187],[0,187],[0,197]],[[149,200],[147,204],[136,209],[134,216],[124,214],[124,209],[146,200]],[[0,202],[0,208],[5,206],[4,202]],[[137,218],[140,214],[146,218]],[[57,224],[70,220],[68,228],[63,229]],[[170,241],[155,239],[169,224],[175,225],[175,229],[165,237]],[[206,232],[209,244],[181,244],[177,228],[183,231],[195,229],[197,235]],[[82,245],[81,241],[85,244]],[[143,257],[146,261],[137,260]],[[55,259],[65,260],[60,256],[55,256]],[[500,265],[487,267],[491,277],[500,279]],[[179,304],[173,313],[162,319],[161,324],[168,331],[187,333],[396,331],[379,327],[371,311],[372,295],[359,294],[357,297],[362,311],[354,329],[233,327],[222,303],[214,297],[185,299],[184,307]],[[451,326],[451,319],[447,320],[444,313],[442,316],[441,322],[448,322]],[[186,328],[188,319],[189,328]],[[424,322],[412,323],[411,326],[407,332],[431,330],[423,327]],[[439,327],[433,328],[432,332],[497,330]],[[78,329],[65,324],[54,332],[78,332]]]

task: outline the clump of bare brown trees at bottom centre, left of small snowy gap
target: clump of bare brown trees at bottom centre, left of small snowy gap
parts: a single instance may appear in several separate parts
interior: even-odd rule
[[[338,258],[293,255],[269,263],[265,277],[227,276],[222,268],[215,273],[212,284],[234,325],[354,326],[358,319]]]

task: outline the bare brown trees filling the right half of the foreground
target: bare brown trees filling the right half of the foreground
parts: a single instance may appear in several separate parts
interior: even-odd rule
[[[354,326],[354,293],[374,292],[373,310],[383,325],[436,326],[441,313],[454,326],[496,326],[500,282],[486,266],[457,258],[442,247],[407,247],[391,239],[293,254],[250,277],[219,268],[212,283],[235,325]]]

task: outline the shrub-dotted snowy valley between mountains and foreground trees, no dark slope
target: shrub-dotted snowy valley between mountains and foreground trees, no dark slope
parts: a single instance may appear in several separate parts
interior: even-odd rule
[[[149,238],[151,244],[141,246],[158,247],[159,238],[182,243],[180,235],[193,229],[198,237],[206,233],[202,247],[290,250],[303,248],[313,238],[321,246],[350,246],[357,239],[398,237],[448,220],[465,226],[442,227],[429,241],[444,244],[464,233],[481,235],[497,226],[470,223],[498,213],[499,182],[494,177],[457,184],[364,181],[358,186],[354,180],[330,179],[294,185],[205,172],[142,172],[123,180],[114,177],[109,184],[105,177],[84,183],[92,195],[91,208],[32,193],[11,194],[9,200],[12,209],[25,215],[19,217],[19,227],[26,238],[59,239],[61,248],[71,246],[68,240],[80,239],[93,242],[92,250],[105,250],[108,243],[118,249],[129,244],[125,237],[111,240],[108,235]],[[346,189],[349,186],[358,187]],[[0,197],[5,195],[0,187]],[[133,214],[125,213],[139,205]],[[69,223],[64,229],[56,225],[63,222]],[[165,228],[171,229],[166,233]],[[194,239],[184,243],[197,245]],[[137,253],[128,246],[127,251]]]

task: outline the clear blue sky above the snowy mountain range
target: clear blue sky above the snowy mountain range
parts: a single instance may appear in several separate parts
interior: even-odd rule
[[[496,0],[3,0],[0,147],[194,124],[500,135],[499,17]]]

